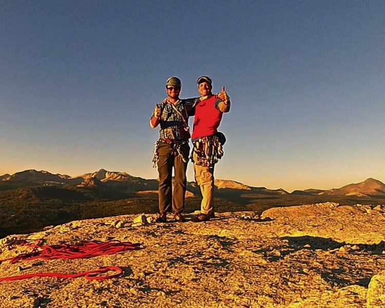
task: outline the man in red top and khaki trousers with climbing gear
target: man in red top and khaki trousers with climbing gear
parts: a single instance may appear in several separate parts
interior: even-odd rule
[[[225,88],[213,95],[211,79],[207,76],[198,78],[200,102],[195,107],[194,128],[191,140],[194,145],[192,162],[194,163],[195,181],[202,193],[201,213],[192,221],[207,221],[214,217],[214,166],[223,156],[224,135],[218,132],[223,112],[230,110],[230,100]]]

